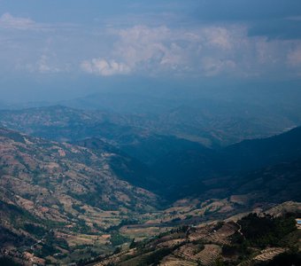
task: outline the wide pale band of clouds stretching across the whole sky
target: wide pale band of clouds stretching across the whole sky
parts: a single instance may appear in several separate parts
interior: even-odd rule
[[[11,69],[18,65],[32,73],[70,72],[80,67],[102,76],[245,77],[299,73],[301,66],[300,40],[250,36],[248,27],[238,24],[136,25],[95,31],[46,25],[5,13],[0,28],[12,29],[0,32],[0,59]]]

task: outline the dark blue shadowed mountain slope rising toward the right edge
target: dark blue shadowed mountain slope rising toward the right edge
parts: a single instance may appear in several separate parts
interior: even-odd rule
[[[297,176],[300,140],[299,127],[278,136],[246,140],[218,150],[173,137],[149,137],[124,149],[152,169],[154,178],[161,184],[155,192],[177,200],[206,195],[213,190],[216,190],[216,194],[211,194],[213,198],[220,196],[220,190],[231,193],[233,187],[243,182],[252,183],[257,176],[266,175],[269,169],[275,169],[275,173],[279,171],[278,176],[281,176],[288,168],[295,171],[292,176]],[[294,182],[289,179],[292,176],[286,176],[288,184]]]

